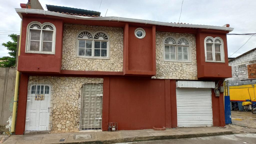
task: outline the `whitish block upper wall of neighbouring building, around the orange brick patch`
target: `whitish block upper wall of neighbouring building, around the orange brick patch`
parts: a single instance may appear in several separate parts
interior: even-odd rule
[[[256,79],[251,79],[248,77],[248,65],[255,65],[255,63],[256,50],[229,61],[229,66],[232,66],[232,78],[226,79],[229,80],[229,86],[255,84]]]

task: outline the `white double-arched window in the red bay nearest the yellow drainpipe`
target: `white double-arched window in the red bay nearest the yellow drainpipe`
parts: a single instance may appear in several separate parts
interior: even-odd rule
[[[56,28],[51,23],[32,22],[27,29],[26,53],[55,54]]]

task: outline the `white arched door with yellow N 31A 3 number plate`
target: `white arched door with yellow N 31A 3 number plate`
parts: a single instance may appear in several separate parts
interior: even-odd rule
[[[51,82],[37,79],[28,87],[25,131],[51,129]]]

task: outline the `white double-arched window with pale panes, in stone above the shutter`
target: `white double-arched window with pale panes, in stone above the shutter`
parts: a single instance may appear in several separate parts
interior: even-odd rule
[[[177,62],[190,62],[190,42],[185,37],[176,40],[168,36],[164,39],[164,60]]]

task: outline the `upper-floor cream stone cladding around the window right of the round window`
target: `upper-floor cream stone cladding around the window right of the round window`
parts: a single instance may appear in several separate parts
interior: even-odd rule
[[[163,41],[166,36],[187,37],[191,43],[191,63],[169,62],[163,58]],[[156,75],[157,79],[197,79],[196,37],[193,34],[156,32]]]

